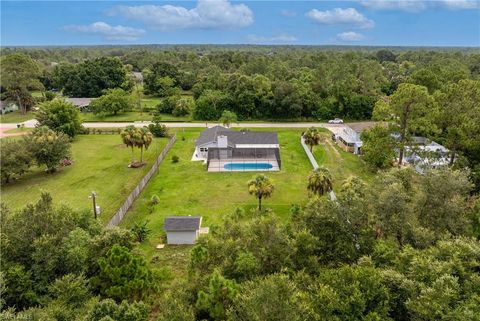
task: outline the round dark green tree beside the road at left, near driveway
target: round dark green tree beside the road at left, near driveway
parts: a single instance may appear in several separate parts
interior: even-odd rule
[[[75,137],[82,130],[80,113],[73,104],[61,99],[44,102],[36,114],[39,126]]]

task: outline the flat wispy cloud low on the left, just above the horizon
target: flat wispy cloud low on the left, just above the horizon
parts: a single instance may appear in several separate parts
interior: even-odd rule
[[[78,33],[100,35],[107,40],[137,40],[145,34],[145,30],[125,26],[111,26],[99,21],[89,25],[65,26],[64,30]]]

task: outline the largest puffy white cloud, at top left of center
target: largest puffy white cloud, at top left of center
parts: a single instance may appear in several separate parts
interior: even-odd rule
[[[253,12],[228,0],[199,0],[193,9],[173,5],[117,6],[110,15],[140,20],[155,29],[235,28],[253,23]]]

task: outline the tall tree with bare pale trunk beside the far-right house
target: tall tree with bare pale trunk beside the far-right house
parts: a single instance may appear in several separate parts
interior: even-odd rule
[[[376,117],[393,120],[399,131],[398,164],[403,163],[405,146],[412,134],[428,134],[436,131],[437,109],[433,98],[423,86],[403,83],[388,100],[375,104]]]

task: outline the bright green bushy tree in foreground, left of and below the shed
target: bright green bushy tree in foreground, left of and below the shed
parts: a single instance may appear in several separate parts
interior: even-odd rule
[[[140,300],[154,288],[153,274],[142,257],[133,255],[126,247],[115,244],[98,260],[99,272],[92,284],[103,297]]]

